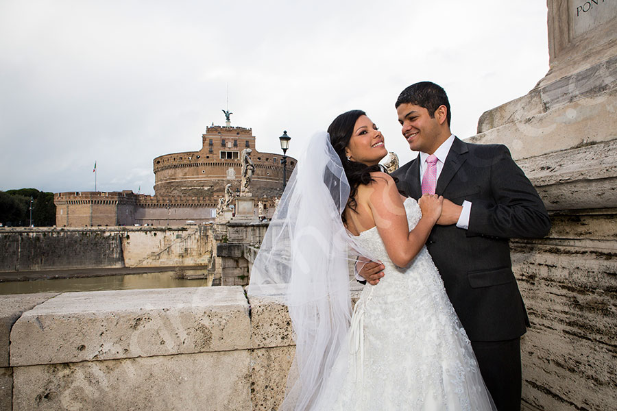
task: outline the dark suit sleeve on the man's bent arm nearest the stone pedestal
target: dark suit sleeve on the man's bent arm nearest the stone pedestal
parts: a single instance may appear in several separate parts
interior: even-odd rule
[[[546,236],[551,221],[540,196],[507,147],[496,150],[490,167],[492,195],[472,201],[468,231],[503,238]]]

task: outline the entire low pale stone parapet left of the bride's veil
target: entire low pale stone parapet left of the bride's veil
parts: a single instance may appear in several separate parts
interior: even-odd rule
[[[0,410],[271,410],[285,393],[287,310],[241,287],[50,297],[0,297],[26,310],[0,345]]]

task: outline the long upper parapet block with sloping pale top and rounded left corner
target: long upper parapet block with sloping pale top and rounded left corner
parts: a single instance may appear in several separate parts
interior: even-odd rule
[[[69,292],[23,314],[10,364],[24,366],[250,347],[241,287]]]

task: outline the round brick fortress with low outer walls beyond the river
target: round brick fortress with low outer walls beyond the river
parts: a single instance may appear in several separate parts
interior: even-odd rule
[[[202,149],[160,155],[154,159],[154,196],[121,192],[58,192],[56,226],[184,225],[214,221],[219,199],[230,184],[241,185],[243,150],[250,149],[255,171],[250,190],[261,213],[270,217],[282,194],[282,155],[256,150],[252,129],[211,125],[202,134]],[[248,151],[246,151],[247,153]],[[287,179],[295,166],[287,157]],[[257,214],[257,208],[255,213]]]

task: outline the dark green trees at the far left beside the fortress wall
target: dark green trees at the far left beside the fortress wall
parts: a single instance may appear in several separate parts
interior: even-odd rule
[[[0,191],[0,223],[4,227],[29,226],[31,198],[32,225],[36,227],[56,225],[53,192],[39,191],[36,188]]]

